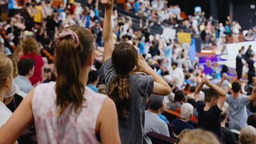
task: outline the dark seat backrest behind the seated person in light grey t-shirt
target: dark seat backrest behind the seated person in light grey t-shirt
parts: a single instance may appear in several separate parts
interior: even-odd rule
[[[148,132],[147,136],[150,138],[153,144],[174,144],[177,141],[174,138],[170,138],[156,132]]]

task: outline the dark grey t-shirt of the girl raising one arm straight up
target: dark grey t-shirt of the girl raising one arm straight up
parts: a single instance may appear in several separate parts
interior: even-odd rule
[[[116,76],[111,58],[106,60],[99,70],[100,76],[104,76],[106,92],[109,90],[109,83]],[[128,120],[119,119],[118,127],[122,144],[151,144],[150,138],[144,131],[145,105],[147,96],[154,87],[154,79],[151,76],[136,73],[128,77],[131,90],[132,102],[129,109]]]

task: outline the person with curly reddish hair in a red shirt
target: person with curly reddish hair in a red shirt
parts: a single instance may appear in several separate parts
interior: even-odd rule
[[[38,83],[42,83],[43,81],[43,70],[44,70],[44,61],[42,56],[40,55],[40,49],[38,47],[38,43],[32,37],[27,37],[22,40],[22,51],[24,53],[23,56],[20,56],[20,60],[23,58],[30,58],[35,61],[35,72],[33,76],[29,79],[29,81],[36,85]]]

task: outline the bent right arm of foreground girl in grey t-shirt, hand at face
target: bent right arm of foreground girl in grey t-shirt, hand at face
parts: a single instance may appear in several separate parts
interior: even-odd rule
[[[145,72],[154,79],[153,93],[156,95],[169,95],[172,90],[168,83],[159,76],[151,67],[148,66],[147,62],[141,54],[138,56],[138,72]]]

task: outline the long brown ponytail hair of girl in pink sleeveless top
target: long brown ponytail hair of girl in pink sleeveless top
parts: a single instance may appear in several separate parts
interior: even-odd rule
[[[81,26],[70,26],[79,38],[79,46],[74,46],[71,36],[63,38],[56,46],[56,95],[57,115],[60,116],[70,106],[74,112],[79,112],[85,101],[84,87],[86,81],[81,78],[82,67],[93,53],[93,36],[90,31]]]

